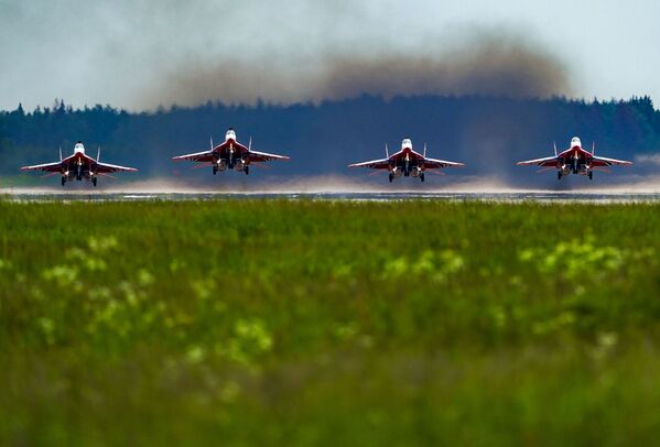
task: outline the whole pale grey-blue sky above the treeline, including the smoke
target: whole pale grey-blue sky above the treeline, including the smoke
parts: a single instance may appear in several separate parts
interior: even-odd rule
[[[660,105],[660,1],[0,0],[0,109],[360,94]]]

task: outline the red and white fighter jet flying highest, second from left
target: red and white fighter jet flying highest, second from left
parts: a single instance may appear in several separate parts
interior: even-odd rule
[[[213,175],[216,175],[218,171],[226,170],[245,172],[246,175],[248,175],[250,173],[251,164],[259,166],[260,163],[270,162],[272,160],[290,159],[284,155],[252,151],[252,139],[250,139],[250,142],[246,148],[236,140],[236,131],[232,128],[229,128],[225,134],[224,143],[214,145],[212,138],[209,151],[174,156],[172,160],[175,162],[187,160],[191,162],[204,163],[202,166],[213,166]]]

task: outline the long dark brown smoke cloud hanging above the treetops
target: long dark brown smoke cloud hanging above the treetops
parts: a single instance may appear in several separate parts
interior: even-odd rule
[[[448,51],[429,45],[414,52],[351,48],[329,54],[311,66],[292,61],[218,64],[186,62],[161,73],[140,97],[142,106],[196,105],[208,99],[228,103],[291,103],[345,99],[364,94],[391,98],[419,95],[484,95],[511,98],[571,95],[563,62],[539,44],[512,35],[477,32]],[[435,41],[433,41],[435,42]],[[422,48],[426,48],[425,51]],[[278,65],[278,63],[280,65]]]

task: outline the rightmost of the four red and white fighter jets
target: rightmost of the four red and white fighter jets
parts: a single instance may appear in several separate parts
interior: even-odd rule
[[[625,160],[606,159],[604,156],[596,156],[596,144],[592,145],[592,151],[585,151],[582,148],[582,142],[577,137],[573,137],[571,140],[571,146],[563,152],[556,153],[556,144],[554,145],[554,156],[547,156],[544,159],[528,160],[524,162],[518,162],[519,166],[537,165],[542,166],[544,172],[549,170],[556,170],[556,178],[561,179],[564,175],[580,174],[586,175],[589,179],[594,178],[594,171],[609,172],[608,166],[620,165],[630,166],[632,162]]]

